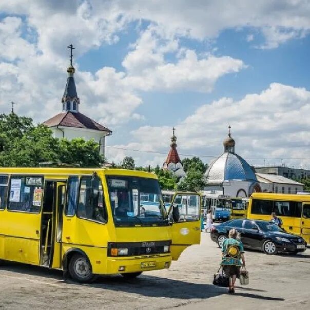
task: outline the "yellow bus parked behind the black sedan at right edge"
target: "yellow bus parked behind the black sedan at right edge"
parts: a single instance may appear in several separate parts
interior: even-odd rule
[[[302,236],[310,243],[310,195],[253,193],[249,200],[247,218],[267,220],[272,212],[282,220],[288,233]]]

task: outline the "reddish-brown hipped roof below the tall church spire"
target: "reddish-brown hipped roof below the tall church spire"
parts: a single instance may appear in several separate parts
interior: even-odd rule
[[[88,118],[86,115],[80,112],[71,111],[59,113],[51,119],[45,121],[43,125],[48,127],[65,126],[112,132],[110,129],[100,125],[94,120]]]

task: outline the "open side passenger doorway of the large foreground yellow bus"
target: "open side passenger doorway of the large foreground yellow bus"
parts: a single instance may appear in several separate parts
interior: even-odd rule
[[[42,266],[57,268],[59,265],[61,243],[56,242],[56,233],[59,233],[60,228],[59,215],[62,214],[60,210],[63,208],[65,186],[64,181],[45,181],[40,238],[40,264]]]

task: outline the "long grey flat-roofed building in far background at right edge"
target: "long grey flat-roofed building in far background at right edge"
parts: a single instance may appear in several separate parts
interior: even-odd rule
[[[281,166],[271,167],[254,167],[255,172],[264,173],[266,175],[282,176],[289,179],[302,180],[310,178],[310,170],[296,169]]]

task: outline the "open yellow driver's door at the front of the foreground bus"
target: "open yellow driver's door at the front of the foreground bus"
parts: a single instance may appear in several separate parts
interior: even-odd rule
[[[200,244],[201,196],[198,193],[176,193],[169,210],[172,221],[171,256],[177,260],[192,244]]]

